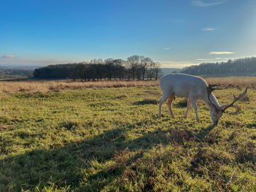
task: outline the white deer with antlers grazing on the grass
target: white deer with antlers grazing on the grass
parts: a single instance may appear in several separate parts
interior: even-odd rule
[[[208,85],[201,77],[192,76],[189,74],[167,74],[159,80],[160,88],[162,89],[162,98],[159,100],[158,118],[161,118],[161,108],[163,102],[167,99],[167,106],[170,116],[174,118],[171,104],[175,100],[175,96],[187,97],[187,111],[184,118],[187,118],[189,108],[192,106],[195,110],[197,122],[200,122],[197,114],[197,99],[203,100],[209,107],[211,112],[211,120],[214,126],[217,126],[219,118],[228,107],[234,107],[233,104],[241,99],[247,92],[241,93],[238,97],[234,96],[234,101],[231,104],[220,105],[214,96],[212,88],[214,85]]]

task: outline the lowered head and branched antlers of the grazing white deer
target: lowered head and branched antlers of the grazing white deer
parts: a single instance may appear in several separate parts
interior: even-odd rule
[[[210,95],[211,92],[214,91],[214,85],[208,85],[207,88],[207,93],[208,93],[208,100],[210,102],[210,106],[213,110],[211,110],[211,120],[212,120],[212,124],[214,126],[218,125],[219,122],[219,118],[222,117],[223,112],[225,112],[225,110],[227,110],[227,108],[229,107],[234,107],[234,103],[238,100],[240,100],[243,96],[245,96],[245,94],[247,93],[247,88],[245,89],[245,91],[243,93],[241,93],[238,97],[236,97],[235,95],[233,95],[234,100],[232,103],[230,104],[223,104],[222,106],[217,107],[216,104],[214,104],[214,102],[211,101],[210,99]]]

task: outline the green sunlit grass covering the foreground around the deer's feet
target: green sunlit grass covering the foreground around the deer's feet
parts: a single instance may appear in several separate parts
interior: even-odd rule
[[[215,128],[183,99],[159,120],[157,87],[2,93],[0,191],[256,191],[255,93]]]

